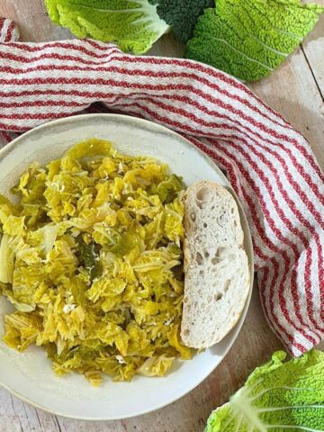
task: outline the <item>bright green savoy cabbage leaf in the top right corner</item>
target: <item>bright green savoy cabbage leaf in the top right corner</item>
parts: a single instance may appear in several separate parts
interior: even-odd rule
[[[218,0],[198,18],[185,57],[256,81],[297,49],[323,11],[300,0]]]

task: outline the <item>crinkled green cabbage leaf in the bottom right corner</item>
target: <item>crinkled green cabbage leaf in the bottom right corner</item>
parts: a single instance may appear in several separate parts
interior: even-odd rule
[[[324,430],[324,353],[284,362],[277,351],[228,403],[211,413],[205,432]]]

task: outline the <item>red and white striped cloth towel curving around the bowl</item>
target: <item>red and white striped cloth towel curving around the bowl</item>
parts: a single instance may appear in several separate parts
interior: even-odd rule
[[[252,232],[266,319],[293,356],[324,337],[324,176],[302,135],[245,85],[200,63],[93,40],[14,42],[0,22],[0,130],[95,110],[177,130],[227,171]],[[12,41],[9,41],[12,40]],[[101,102],[100,105],[92,103]]]

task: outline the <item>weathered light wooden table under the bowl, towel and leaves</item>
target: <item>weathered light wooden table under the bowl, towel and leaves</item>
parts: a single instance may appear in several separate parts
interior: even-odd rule
[[[324,4],[324,0],[317,0]],[[0,16],[18,23],[23,40],[70,38],[53,26],[42,0],[0,0]],[[300,49],[272,76],[250,85],[266,103],[301,130],[324,168],[324,16]],[[152,49],[155,55],[181,57],[184,47],[172,35]],[[35,410],[0,390],[0,432],[198,432],[211,410],[228,401],[247,375],[265,362],[280,341],[269,329],[255,287],[247,320],[228,356],[199,387],[163,410],[135,419],[84,422]],[[323,345],[321,347],[324,347]]]

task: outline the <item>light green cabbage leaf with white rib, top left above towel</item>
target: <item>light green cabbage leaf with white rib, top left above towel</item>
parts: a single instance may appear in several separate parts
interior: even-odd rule
[[[169,26],[148,0],[45,0],[49,17],[78,38],[115,42],[123,51],[141,54]]]

